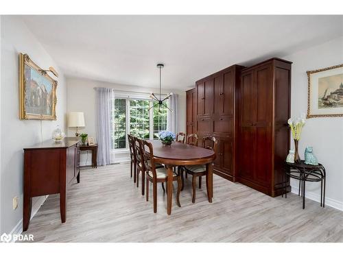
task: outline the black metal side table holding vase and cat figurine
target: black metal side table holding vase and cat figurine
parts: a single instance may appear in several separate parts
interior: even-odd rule
[[[284,180],[285,177],[285,180]],[[299,180],[299,193],[303,197],[303,209],[305,209],[305,182],[320,182],[320,206],[324,208],[325,204],[325,168],[322,164],[310,165],[305,164],[304,160],[300,162],[290,163],[285,162],[285,175],[282,177],[282,197],[285,191],[287,198],[287,191],[285,190],[287,184],[287,177]],[[283,184],[285,182],[285,186]]]

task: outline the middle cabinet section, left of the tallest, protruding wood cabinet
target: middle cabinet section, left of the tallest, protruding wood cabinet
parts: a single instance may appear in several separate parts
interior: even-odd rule
[[[196,132],[199,144],[204,136],[218,140],[214,171],[235,181],[235,92],[243,66],[233,65],[196,82]]]

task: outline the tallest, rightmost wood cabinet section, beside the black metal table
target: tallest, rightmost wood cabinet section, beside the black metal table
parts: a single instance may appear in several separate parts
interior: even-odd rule
[[[271,196],[289,150],[291,65],[273,58],[241,72],[239,182]]]

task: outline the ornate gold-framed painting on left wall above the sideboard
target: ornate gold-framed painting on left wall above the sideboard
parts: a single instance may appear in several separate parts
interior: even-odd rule
[[[19,53],[19,118],[56,120],[57,81]]]

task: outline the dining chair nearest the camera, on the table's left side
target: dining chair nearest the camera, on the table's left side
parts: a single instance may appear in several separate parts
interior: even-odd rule
[[[149,201],[149,182],[152,182],[152,195],[154,198],[154,213],[157,212],[157,183],[167,182],[168,171],[165,167],[156,167],[156,162],[154,159],[154,150],[152,144],[146,140],[142,141],[143,145],[143,165],[147,170],[146,173],[146,201]],[[181,178],[180,175],[173,171],[173,181],[178,182],[178,191],[176,193],[176,202],[179,207],[180,204],[180,191],[181,191]]]

